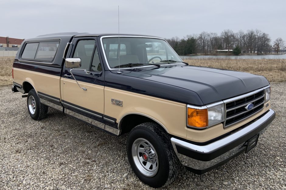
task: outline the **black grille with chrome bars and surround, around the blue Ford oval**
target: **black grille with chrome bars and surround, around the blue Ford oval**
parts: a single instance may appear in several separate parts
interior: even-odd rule
[[[225,102],[226,117],[224,127],[234,125],[250,116],[256,114],[264,107],[264,88],[228,99]],[[246,105],[252,103],[253,108],[247,110]]]

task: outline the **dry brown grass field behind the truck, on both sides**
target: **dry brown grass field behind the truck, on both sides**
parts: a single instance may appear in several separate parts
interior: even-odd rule
[[[14,58],[0,58],[0,87],[12,85]],[[187,59],[189,65],[223,68],[265,76],[270,82],[286,81],[286,59]]]

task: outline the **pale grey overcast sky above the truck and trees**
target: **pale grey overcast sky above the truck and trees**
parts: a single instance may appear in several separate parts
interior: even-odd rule
[[[285,0],[0,0],[0,36],[56,32],[120,33],[171,38],[202,31],[260,29],[286,40]]]

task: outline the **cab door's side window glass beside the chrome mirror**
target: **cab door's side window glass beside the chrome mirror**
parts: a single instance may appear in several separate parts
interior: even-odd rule
[[[79,69],[89,70],[92,59],[92,52],[95,47],[95,40],[80,40],[78,41],[73,58],[81,59],[81,67]]]

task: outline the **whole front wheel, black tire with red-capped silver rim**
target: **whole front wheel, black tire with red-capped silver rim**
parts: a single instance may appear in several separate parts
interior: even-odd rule
[[[154,188],[172,183],[179,172],[180,161],[169,135],[156,123],[142,123],[131,130],[127,156],[135,175]]]

